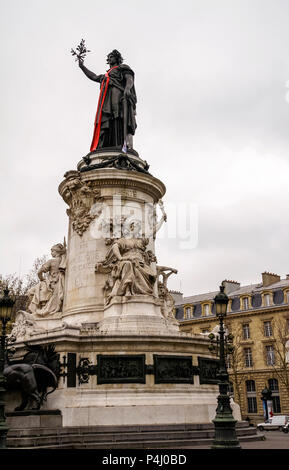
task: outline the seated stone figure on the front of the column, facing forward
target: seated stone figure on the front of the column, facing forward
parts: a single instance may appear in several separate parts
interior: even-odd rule
[[[155,257],[146,250],[148,238],[108,239],[111,245],[105,260],[97,263],[96,272],[109,273],[104,286],[106,304],[115,296],[153,295],[156,271],[151,267]]]

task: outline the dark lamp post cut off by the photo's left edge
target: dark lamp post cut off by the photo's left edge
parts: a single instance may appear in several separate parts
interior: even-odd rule
[[[4,290],[4,296],[0,299],[0,449],[6,447],[8,427],[5,418],[5,378],[3,375],[6,355],[6,325],[12,319],[12,310],[15,301],[9,297],[9,290]]]

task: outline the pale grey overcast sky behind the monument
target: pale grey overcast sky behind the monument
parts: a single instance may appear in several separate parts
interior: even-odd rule
[[[2,0],[0,272],[25,274],[67,234],[58,185],[89,152],[99,91],[70,55],[85,38],[88,68],[103,73],[116,48],[135,72],[134,148],[165,205],[198,210],[193,248],[160,233],[169,287],[284,277],[288,19],[287,0]]]

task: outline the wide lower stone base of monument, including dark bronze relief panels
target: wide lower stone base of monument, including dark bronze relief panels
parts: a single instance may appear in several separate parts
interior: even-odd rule
[[[34,334],[29,343],[56,345],[61,377],[43,410],[61,410],[64,427],[209,423],[215,416],[218,386],[212,370],[201,370],[204,358],[215,360],[201,335],[108,335],[86,324]],[[22,355],[24,343],[15,347]],[[232,408],[240,420],[239,406]]]

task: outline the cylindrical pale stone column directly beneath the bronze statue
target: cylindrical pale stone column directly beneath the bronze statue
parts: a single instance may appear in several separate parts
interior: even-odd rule
[[[118,154],[97,153],[91,157],[90,167],[113,159]],[[129,158],[141,169],[145,167],[137,155],[129,154]],[[110,236],[105,231],[108,220],[115,222],[116,230],[120,217],[140,220],[143,234],[146,235],[146,211],[149,205],[153,207],[165,194],[163,183],[148,173],[110,167],[83,171],[87,169],[87,165],[80,162],[78,172],[67,172],[59,186],[61,196],[70,206],[62,317],[71,324],[103,319],[103,287],[107,275],[96,274],[95,265],[105,258],[108,250],[105,244],[105,238]],[[149,238],[147,249],[154,252],[154,238]],[[148,309],[151,303],[150,300]]]

